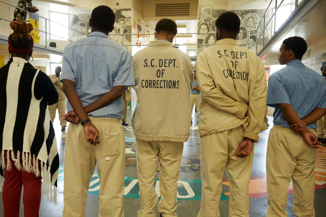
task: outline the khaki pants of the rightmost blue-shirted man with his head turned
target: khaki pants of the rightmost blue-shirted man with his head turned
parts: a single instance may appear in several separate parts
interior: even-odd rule
[[[316,130],[311,130],[316,134]],[[286,217],[285,208],[292,178],[293,213],[315,216],[315,159],[317,149],[289,128],[274,125],[269,133],[266,154],[267,216]]]

